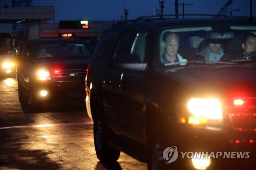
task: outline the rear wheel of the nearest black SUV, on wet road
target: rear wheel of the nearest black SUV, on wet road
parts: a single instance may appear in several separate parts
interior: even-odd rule
[[[94,145],[98,159],[102,162],[116,161],[120,156],[120,151],[111,147],[107,142],[107,127],[98,116],[93,125]]]

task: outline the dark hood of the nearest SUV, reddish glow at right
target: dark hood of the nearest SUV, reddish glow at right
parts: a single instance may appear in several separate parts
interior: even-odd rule
[[[255,65],[184,66],[166,69],[164,75],[197,94],[256,95]]]

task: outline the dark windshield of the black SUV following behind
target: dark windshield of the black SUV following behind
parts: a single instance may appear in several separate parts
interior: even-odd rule
[[[37,50],[37,58],[65,58],[84,57],[89,58],[90,53],[83,44],[47,44],[41,45]]]

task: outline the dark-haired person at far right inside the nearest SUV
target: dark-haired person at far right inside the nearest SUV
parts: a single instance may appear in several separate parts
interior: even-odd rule
[[[243,48],[243,52],[224,55],[220,61],[241,60],[246,54],[256,51],[256,35],[246,34],[243,38],[241,46]]]

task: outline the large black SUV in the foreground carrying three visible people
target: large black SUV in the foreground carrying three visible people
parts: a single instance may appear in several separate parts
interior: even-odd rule
[[[98,159],[123,151],[148,169],[255,169],[255,31],[252,18],[218,17],[138,18],[105,30],[86,76]],[[220,52],[204,57],[210,43]]]

